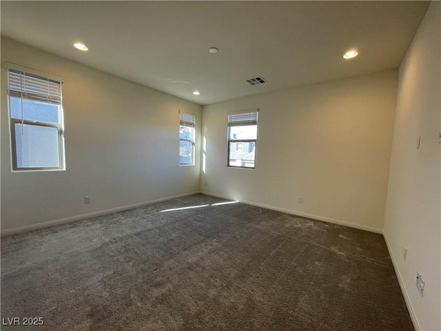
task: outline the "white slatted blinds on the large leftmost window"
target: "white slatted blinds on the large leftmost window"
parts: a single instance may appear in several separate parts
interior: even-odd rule
[[[11,97],[61,105],[61,81],[9,69],[8,94]]]

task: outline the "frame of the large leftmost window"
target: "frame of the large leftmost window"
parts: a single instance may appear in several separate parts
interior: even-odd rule
[[[16,66],[8,66],[8,115],[10,121],[10,146],[11,146],[11,163],[12,163],[12,172],[26,172],[26,171],[53,171],[53,170],[65,170],[65,148],[64,148],[64,114],[63,114],[63,101],[62,101],[62,84],[63,81],[61,79],[57,79],[54,77],[50,77],[47,74],[43,74],[41,72],[35,72],[34,70],[28,70],[28,68],[17,68]],[[60,88],[60,100],[59,102],[51,102],[50,100],[38,99],[41,95],[36,95],[36,97],[25,97],[24,94],[28,95],[28,93],[24,93],[21,91],[21,95],[14,94],[11,91],[17,92],[15,89],[11,89],[10,87],[10,72],[15,72],[16,74],[24,74],[36,79],[52,81],[59,84]],[[34,121],[30,119],[15,119],[12,117],[12,108],[11,108],[11,98],[17,98],[22,100],[31,100],[42,103],[52,103],[57,105],[58,107],[58,123],[51,123],[46,121]],[[18,155],[17,155],[17,131],[15,129],[16,125],[22,125],[21,130],[25,126],[34,126],[34,127],[43,127],[43,128],[55,128],[57,129],[57,154],[58,154],[58,166],[57,167],[21,167],[18,165]]]

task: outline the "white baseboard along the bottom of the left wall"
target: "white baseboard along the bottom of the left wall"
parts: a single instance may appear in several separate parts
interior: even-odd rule
[[[130,209],[134,209],[134,208],[139,208],[139,207],[143,207],[144,205],[152,205],[153,203],[158,203],[158,202],[176,199],[176,198],[180,198],[180,197],[187,197],[189,195],[194,195],[194,194],[198,194],[198,193],[199,192],[196,191],[196,192],[178,194],[178,195],[173,195],[172,197],[154,199],[154,200],[150,200],[150,201],[134,203],[132,205],[123,205],[121,207],[110,208],[110,209],[106,209],[106,210],[99,210],[97,212],[89,212],[88,214],[81,214],[81,215],[76,215],[76,216],[72,216],[72,217],[65,217],[63,219],[54,219],[52,221],[46,221],[46,222],[41,222],[41,223],[37,223],[37,224],[19,226],[18,228],[2,230],[0,232],[0,235],[1,235],[1,237],[3,237],[6,235],[10,235],[10,234],[17,234],[20,232],[26,232],[26,231],[46,228],[48,226],[59,225],[59,224],[63,224],[63,223],[70,223],[70,222],[74,222],[74,221],[81,221],[82,219],[90,219],[91,217],[97,217],[97,216],[101,216],[101,215],[105,215],[105,214],[112,214],[112,212],[122,212],[123,210],[130,210]]]

